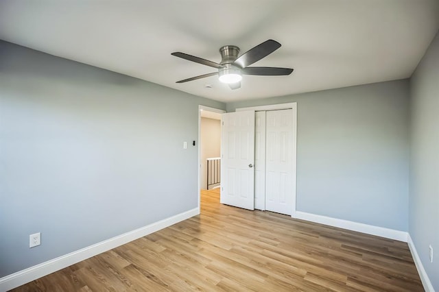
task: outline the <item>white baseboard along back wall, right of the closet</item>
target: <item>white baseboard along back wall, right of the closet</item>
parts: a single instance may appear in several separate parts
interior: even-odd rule
[[[396,241],[407,242],[407,232],[372,226],[364,223],[357,223],[343,219],[336,219],[322,215],[315,215],[307,212],[296,211],[292,215],[293,218],[329,225],[333,227],[343,228],[347,230],[362,232],[366,234],[385,237],[386,239],[394,239]]]

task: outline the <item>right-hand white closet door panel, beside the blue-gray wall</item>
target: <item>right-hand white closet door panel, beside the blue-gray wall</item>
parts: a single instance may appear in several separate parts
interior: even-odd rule
[[[265,209],[293,212],[293,112],[266,113]]]

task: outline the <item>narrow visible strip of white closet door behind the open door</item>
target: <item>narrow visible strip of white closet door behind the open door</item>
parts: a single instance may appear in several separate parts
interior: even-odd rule
[[[265,210],[265,110],[255,113],[254,208]]]

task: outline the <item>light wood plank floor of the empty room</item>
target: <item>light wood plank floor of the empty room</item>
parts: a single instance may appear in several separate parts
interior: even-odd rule
[[[15,291],[424,291],[407,244],[219,204]]]

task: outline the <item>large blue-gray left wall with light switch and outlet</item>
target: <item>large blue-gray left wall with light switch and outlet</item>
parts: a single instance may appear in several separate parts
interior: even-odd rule
[[[198,104],[0,42],[0,277],[196,208]]]

